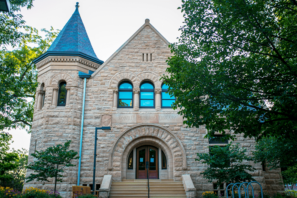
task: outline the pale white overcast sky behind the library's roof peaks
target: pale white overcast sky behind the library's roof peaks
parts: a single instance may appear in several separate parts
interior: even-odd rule
[[[30,10],[22,9],[26,25],[37,29],[61,30],[77,1],[35,0]],[[146,18],[169,41],[177,42],[183,25],[181,0],[79,0],[79,13],[97,57],[106,61],[144,24]],[[10,130],[11,148],[29,150],[30,135]]]

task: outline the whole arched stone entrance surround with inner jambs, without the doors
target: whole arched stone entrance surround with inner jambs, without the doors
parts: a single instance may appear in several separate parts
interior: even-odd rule
[[[187,169],[184,147],[175,134],[157,124],[139,124],[123,132],[113,144],[108,170],[121,171],[121,178],[115,180],[136,178],[136,170],[127,168],[128,157],[135,149],[134,159],[136,159],[136,148],[142,145],[159,148],[159,156],[161,152],[165,154],[168,167],[162,170],[159,166],[159,178],[173,179],[173,171]]]

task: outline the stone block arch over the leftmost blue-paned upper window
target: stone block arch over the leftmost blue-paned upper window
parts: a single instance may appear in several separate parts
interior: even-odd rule
[[[135,82],[137,82],[137,76],[134,72],[130,71],[122,71],[118,72],[113,77],[111,77],[108,88],[118,88],[118,85],[123,80],[129,80],[132,82],[133,86],[135,87]]]

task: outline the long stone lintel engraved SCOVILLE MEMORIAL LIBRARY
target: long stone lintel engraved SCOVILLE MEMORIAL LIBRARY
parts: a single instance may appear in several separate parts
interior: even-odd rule
[[[112,123],[183,123],[178,114],[113,114]]]

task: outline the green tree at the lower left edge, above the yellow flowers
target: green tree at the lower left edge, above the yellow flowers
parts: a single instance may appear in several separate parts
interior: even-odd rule
[[[14,160],[18,160],[18,154],[8,153],[9,151],[9,141],[11,140],[12,135],[8,133],[0,134],[0,182],[5,183],[13,180],[13,177],[5,174],[6,171],[13,170],[17,167],[16,164],[13,163]]]

